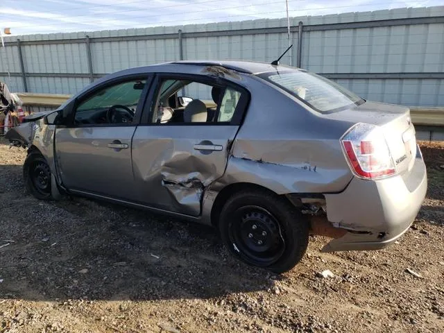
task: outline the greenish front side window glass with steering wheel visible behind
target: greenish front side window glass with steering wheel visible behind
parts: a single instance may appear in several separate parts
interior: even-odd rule
[[[128,80],[94,92],[76,108],[78,124],[132,123],[146,80]]]

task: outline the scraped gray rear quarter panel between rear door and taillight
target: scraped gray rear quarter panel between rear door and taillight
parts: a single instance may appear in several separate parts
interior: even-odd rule
[[[352,179],[339,139],[350,122],[325,119],[264,80],[246,76],[251,100],[214,188],[251,182],[277,194],[342,191]]]

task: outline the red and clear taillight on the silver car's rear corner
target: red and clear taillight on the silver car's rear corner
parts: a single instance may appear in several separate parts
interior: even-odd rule
[[[352,171],[360,178],[384,178],[396,172],[384,133],[378,126],[357,123],[341,142]]]

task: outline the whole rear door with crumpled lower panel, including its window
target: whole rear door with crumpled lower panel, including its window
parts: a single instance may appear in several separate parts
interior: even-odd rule
[[[249,95],[199,76],[162,75],[155,82],[133,137],[135,200],[198,216],[205,187],[225,172]]]

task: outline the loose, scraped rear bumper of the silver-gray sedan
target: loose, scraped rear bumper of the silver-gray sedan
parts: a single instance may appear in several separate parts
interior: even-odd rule
[[[418,148],[413,168],[383,180],[353,178],[340,194],[325,194],[327,219],[348,232],[323,252],[379,250],[404,234],[416,218],[427,191],[427,172]]]

